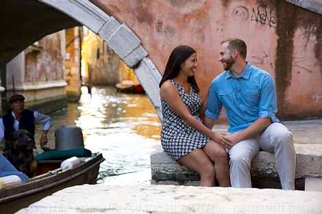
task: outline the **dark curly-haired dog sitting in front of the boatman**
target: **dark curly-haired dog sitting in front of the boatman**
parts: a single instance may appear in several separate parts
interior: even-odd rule
[[[5,142],[5,157],[18,170],[32,177],[36,175],[37,162],[34,159],[33,149],[35,142],[29,131],[19,129],[11,134],[10,139]]]

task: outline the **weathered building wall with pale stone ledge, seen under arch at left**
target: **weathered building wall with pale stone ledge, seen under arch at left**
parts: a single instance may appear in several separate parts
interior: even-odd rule
[[[45,113],[66,106],[65,46],[63,30],[14,57],[6,66],[7,98],[23,94],[27,108]]]

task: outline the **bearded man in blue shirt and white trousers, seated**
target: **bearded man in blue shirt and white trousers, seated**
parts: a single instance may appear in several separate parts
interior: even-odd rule
[[[204,123],[212,129],[224,107],[230,124],[218,144],[230,155],[232,187],[251,187],[251,159],[260,149],[275,152],[282,189],[295,189],[295,149],[292,133],[280,123],[274,81],[268,72],[246,62],[243,40],[221,42],[219,61],[224,72],[209,89]]]

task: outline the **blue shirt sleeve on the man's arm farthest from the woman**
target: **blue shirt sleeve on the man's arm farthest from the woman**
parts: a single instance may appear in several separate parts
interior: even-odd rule
[[[272,122],[278,122],[277,98],[273,78],[270,75],[264,77],[260,92],[260,102],[258,103],[258,116],[260,118],[271,118]]]

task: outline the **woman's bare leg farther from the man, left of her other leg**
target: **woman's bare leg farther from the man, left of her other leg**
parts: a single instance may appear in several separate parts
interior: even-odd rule
[[[201,148],[193,150],[188,155],[180,158],[179,163],[199,174],[201,186],[214,186],[214,165]]]

